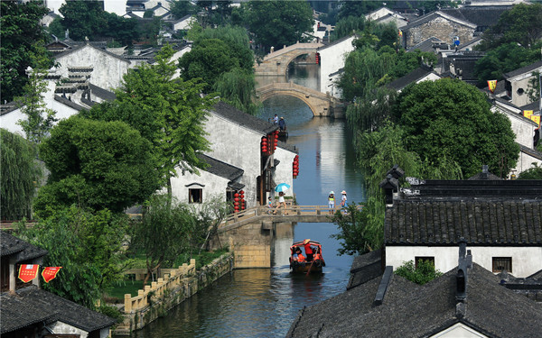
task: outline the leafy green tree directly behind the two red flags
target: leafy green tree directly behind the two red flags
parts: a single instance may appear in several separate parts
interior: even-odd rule
[[[128,262],[122,249],[127,229],[126,215],[69,206],[33,228],[19,229],[19,236],[49,251],[45,266],[62,267],[43,288],[93,309],[103,292],[122,279]]]

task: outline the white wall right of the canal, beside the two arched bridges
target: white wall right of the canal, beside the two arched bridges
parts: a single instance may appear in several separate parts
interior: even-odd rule
[[[354,50],[352,41],[354,41],[354,36],[318,50],[322,59],[320,63],[320,91],[322,93],[332,91],[332,78],[330,78],[330,74],[344,68],[347,53]]]

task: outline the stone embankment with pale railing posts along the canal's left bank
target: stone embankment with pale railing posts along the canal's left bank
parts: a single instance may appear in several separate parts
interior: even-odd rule
[[[137,296],[125,295],[124,307],[121,308],[124,322],[117,325],[113,334],[130,335],[143,328],[232,269],[232,253],[220,256],[199,271],[196,271],[196,260],[182,264],[179,269],[168,269],[169,273],[165,273],[164,278],[145,286]]]

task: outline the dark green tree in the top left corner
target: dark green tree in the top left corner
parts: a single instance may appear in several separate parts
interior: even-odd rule
[[[39,1],[2,1],[0,6],[0,91],[3,101],[11,101],[28,82],[25,70],[29,66],[36,68],[42,58],[47,59],[46,69],[52,66],[44,47],[48,37],[40,23],[49,10]]]

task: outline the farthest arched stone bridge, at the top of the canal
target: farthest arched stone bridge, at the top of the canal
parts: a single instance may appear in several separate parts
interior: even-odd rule
[[[295,43],[282,50],[276,50],[266,55],[260,64],[255,65],[257,76],[286,75],[288,65],[298,56],[304,54],[315,54],[322,43]]]

